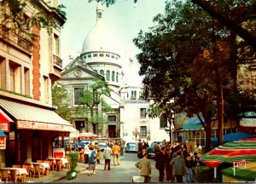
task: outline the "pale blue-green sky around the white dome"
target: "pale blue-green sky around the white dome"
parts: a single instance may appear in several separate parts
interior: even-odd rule
[[[96,25],[96,1],[61,0],[66,9],[67,21],[61,30],[61,59],[67,66],[69,55],[79,55],[84,38]],[[148,32],[148,27],[154,26],[156,14],[164,14],[165,0],[116,0],[108,8],[103,7],[105,25],[116,35],[125,53],[135,59],[139,49],[132,43],[138,32]]]

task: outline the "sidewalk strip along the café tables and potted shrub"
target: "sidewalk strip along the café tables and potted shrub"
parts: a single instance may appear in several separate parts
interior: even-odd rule
[[[88,166],[88,164],[78,162],[78,166],[77,166],[76,170],[78,171],[78,173],[80,173],[80,172],[86,170],[86,166]],[[44,175],[44,176],[41,176],[40,178],[38,178],[38,177],[35,177],[35,178],[26,177],[26,182],[56,182],[56,181],[61,181],[61,180],[66,178],[67,171],[68,171],[67,169],[64,169],[64,170],[61,170],[61,171],[51,171],[51,173],[49,175]]]

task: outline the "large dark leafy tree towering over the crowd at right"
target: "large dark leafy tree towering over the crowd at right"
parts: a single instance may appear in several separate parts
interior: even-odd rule
[[[236,4],[225,4],[223,9],[232,6]],[[222,124],[222,94],[236,82],[236,60],[230,47],[236,39],[230,29],[190,2],[167,2],[166,14],[154,21],[159,25],[134,39],[142,50],[137,60],[144,76],[144,95],[162,107],[174,99],[176,112],[197,114],[206,130],[208,151],[212,118],[218,117]]]

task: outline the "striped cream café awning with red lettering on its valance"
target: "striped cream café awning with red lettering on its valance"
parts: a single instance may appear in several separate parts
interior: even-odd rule
[[[72,125],[48,108],[0,99],[0,108],[16,120],[17,129],[70,132]]]

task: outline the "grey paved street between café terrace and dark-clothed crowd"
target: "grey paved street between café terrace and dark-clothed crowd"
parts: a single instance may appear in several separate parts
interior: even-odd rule
[[[113,166],[113,159],[111,160],[111,170],[104,170],[104,160],[101,164],[96,166],[96,175],[88,175],[88,170],[79,173],[77,178],[68,181],[67,179],[60,182],[131,182],[133,175],[139,175],[139,171],[135,167],[137,161],[137,154],[125,153],[120,156],[120,165]],[[84,167],[88,164],[84,164]],[[152,174],[151,182],[158,181],[158,170],[154,168],[154,160],[151,160]]]

